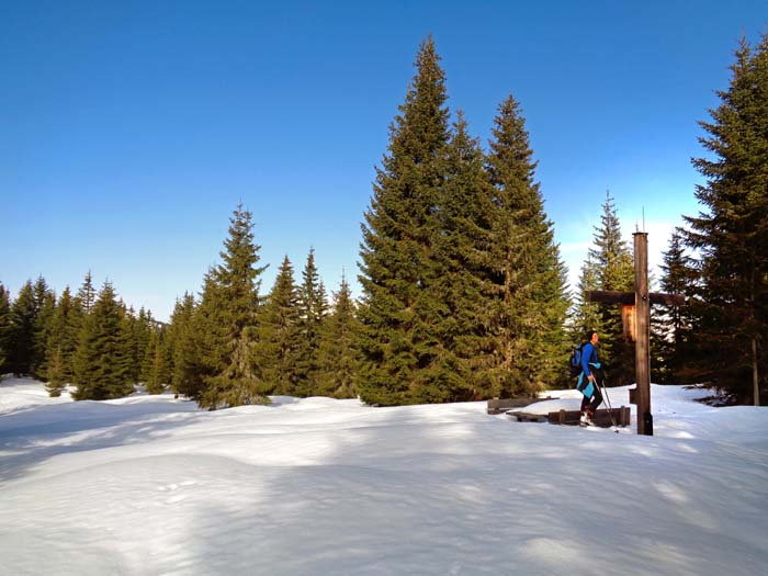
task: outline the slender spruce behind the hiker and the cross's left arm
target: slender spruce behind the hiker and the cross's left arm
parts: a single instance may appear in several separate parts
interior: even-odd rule
[[[634,291],[634,263],[632,251],[621,237],[621,223],[610,192],[602,204],[600,226],[595,227],[594,246],[579,280],[578,309],[573,325],[574,338],[586,338],[588,330],[600,334],[600,361],[608,368],[610,385],[625,385],[634,381],[634,346],[625,341],[621,324],[621,309],[615,305],[594,305],[584,297],[586,290]],[[586,321],[595,320],[596,324]]]

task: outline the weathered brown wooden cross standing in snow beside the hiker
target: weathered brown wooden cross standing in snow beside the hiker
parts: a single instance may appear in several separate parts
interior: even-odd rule
[[[588,302],[621,304],[634,307],[634,370],[637,385],[630,389],[630,402],[637,405],[637,433],[653,436],[651,414],[651,305],[682,304],[679,294],[648,293],[648,235],[636,231],[634,237],[634,293],[632,292],[587,292]],[[624,310],[622,316],[631,314]],[[625,332],[626,332],[625,327]]]

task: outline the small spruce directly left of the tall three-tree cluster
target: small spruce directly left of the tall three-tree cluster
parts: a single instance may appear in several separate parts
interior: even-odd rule
[[[359,321],[355,304],[346,278],[334,293],[334,306],[321,327],[317,394],[335,398],[353,398],[358,392],[354,377],[358,372],[355,342]]]

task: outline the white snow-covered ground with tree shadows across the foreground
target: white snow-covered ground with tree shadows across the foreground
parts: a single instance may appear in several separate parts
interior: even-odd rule
[[[766,574],[768,409],[707,394],[654,386],[639,437],[485,403],[207,413],[7,379],[0,573]]]

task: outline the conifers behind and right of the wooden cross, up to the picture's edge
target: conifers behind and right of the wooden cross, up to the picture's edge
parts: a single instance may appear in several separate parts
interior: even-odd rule
[[[682,305],[652,310],[652,380],[705,383],[736,402],[765,404],[768,392],[768,35],[742,38],[726,90],[711,120],[699,124],[707,155],[692,163],[703,177],[702,211],[685,216],[663,255],[659,287]],[[631,290],[631,253],[621,242],[610,195],[584,264],[573,326],[603,330],[601,355],[614,377],[631,382],[615,310],[584,301],[586,290]]]

